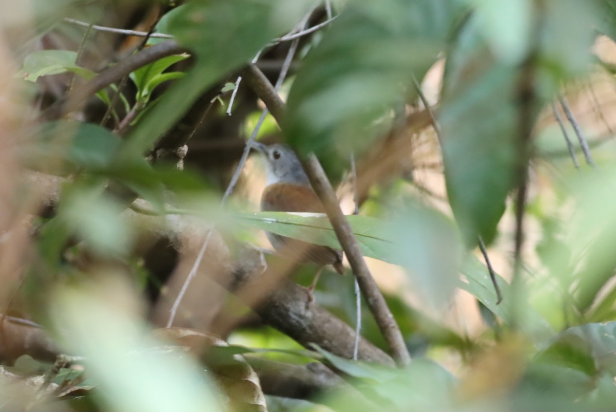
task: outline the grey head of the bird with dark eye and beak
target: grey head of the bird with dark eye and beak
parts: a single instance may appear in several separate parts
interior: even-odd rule
[[[275,183],[310,184],[308,176],[297,155],[283,144],[265,145],[253,142],[253,148],[261,152],[267,168],[267,185]]]

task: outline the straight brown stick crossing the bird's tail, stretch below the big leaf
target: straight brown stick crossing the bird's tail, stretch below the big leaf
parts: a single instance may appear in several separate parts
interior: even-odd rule
[[[381,294],[365,260],[363,260],[362,250],[357,243],[357,239],[355,239],[353,229],[340,210],[336,193],[331,187],[323,167],[314,154],[310,154],[302,163],[312,188],[325,206],[325,212],[331,221],[331,226],[333,226],[336,237],[338,237],[338,241],[351,264],[355,278],[359,281],[368,307],[370,307],[383,337],[391,348],[394,360],[399,366],[407,366],[411,361],[411,355],[408,353],[402,332],[400,332],[394,316],[387,307],[383,294]]]

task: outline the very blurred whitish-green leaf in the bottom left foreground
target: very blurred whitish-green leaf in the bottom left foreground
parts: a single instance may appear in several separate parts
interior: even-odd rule
[[[156,350],[145,325],[129,313],[118,284],[55,290],[51,318],[63,345],[85,356],[97,396],[115,411],[222,411],[200,367],[179,353]],[[120,286],[121,287],[121,286]],[[112,294],[110,297],[108,294]],[[128,304],[128,306],[126,306]]]

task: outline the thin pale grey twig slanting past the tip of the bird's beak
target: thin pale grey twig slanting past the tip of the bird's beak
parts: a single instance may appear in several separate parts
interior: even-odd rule
[[[280,75],[278,76],[278,80],[276,81],[275,92],[280,88],[280,86],[282,86],[282,83],[285,81],[286,73],[289,70],[291,61],[293,61],[293,57],[295,56],[295,52],[297,51],[298,44],[299,44],[299,41],[293,41],[293,43],[291,43],[291,46],[289,47],[289,51],[286,55],[285,63],[283,64],[282,69],[280,70]],[[240,178],[241,171],[243,170],[244,164],[246,163],[246,160],[248,159],[248,154],[250,153],[252,144],[254,140],[256,139],[257,134],[259,133],[259,130],[261,129],[261,125],[263,124],[263,121],[265,120],[267,113],[268,113],[267,108],[263,109],[263,111],[261,112],[261,117],[259,118],[259,122],[257,122],[256,126],[254,126],[253,133],[248,139],[248,142],[246,142],[246,147],[244,149],[244,152],[241,155],[240,163],[238,163],[237,168],[235,169],[235,173],[233,173],[231,181],[229,182],[229,186],[227,186],[227,190],[225,190],[225,194],[222,197],[222,200],[221,200],[222,205],[226,204],[227,199],[229,199],[229,196],[233,192],[233,188],[235,187],[235,184],[237,184],[237,181]],[[213,228],[211,227],[208,228],[208,236],[203,242],[203,245],[201,245],[201,250],[199,250],[197,259],[195,259],[195,263],[193,263],[192,268],[190,268],[190,272],[188,272],[188,276],[186,277],[184,284],[182,284],[182,289],[180,289],[180,292],[177,295],[176,299],[174,300],[171,310],[169,311],[169,319],[167,321],[167,328],[171,328],[173,321],[176,318],[177,308],[179,308],[179,305],[182,302],[182,299],[184,299],[186,290],[188,290],[188,285],[190,285],[190,282],[192,282],[193,278],[195,278],[195,276],[197,275],[197,270],[199,266],[201,265],[201,260],[203,260],[205,251],[208,249],[209,239],[211,238],[212,233],[213,233]]]

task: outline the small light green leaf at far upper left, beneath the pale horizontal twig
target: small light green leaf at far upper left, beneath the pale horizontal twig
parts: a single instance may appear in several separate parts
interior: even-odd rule
[[[36,81],[41,76],[59,75],[60,73],[74,72],[86,80],[96,73],[75,64],[77,53],[68,50],[43,50],[28,54],[23,60],[20,75],[25,80]]]

